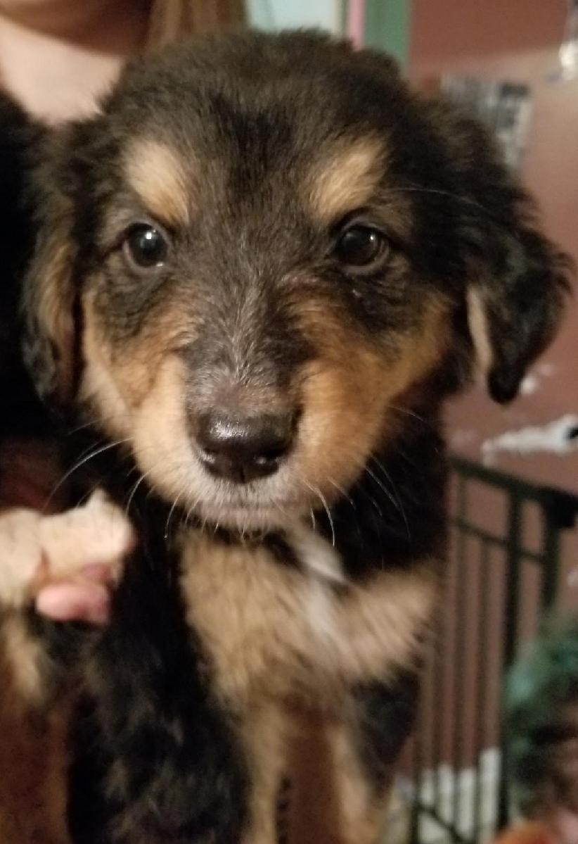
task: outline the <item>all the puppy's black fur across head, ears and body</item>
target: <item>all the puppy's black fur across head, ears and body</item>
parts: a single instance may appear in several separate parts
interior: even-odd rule
[[[200,173],[201,211],[169,232],[172,252],[158,273],[131,268],[124,234],[107,228],[126,208],[128,222],[144,213],[122,165],[127,141],[139,137],[175,145]],[[360,273],[334,258],[348,220],[314,219],[302,179],[334,144],[367,137],[383,138],[387,166],[356,219],[383,229],[389,258]],[[40,233],[24,300],[26,357],[64,431],[85,426],[68,437],[73,457],[110,437],[90,399],[77,400],[89,364],[82,342],[88,292],[119,365],[167,302],[190,317],[195,331],[181,341],[179,360],[191,438],[196,408],[209,401],[222,370],[240,372],[243,386],[273,391],[284,408],[303,413],[295,398],[299,373],[317,354],[299,322],[303,303],[314,303],[321,332],[324,320],[332,330],[337,324],[351,338],[351,353],[360,345],[384,360],[420,327],[428,302],[447,304],[446,351],[433,372],[408,385],[403,407],[392,409],[400,417],[395,434],[377,441],[331,506],[319,502],[313,512],[318,535],[334,545],[354,587],[383,571],[403,576],[424,560],[437,569],[446,475],[439,410],[472,370],[467,289],[474,285],[484,303],[490,392],[505,401],[549,342],[567,287],[565,259],[538,233],[531,203],[479,127],[410,95],[393,63],[377,53],[320,35],[237,35],[135,62],[100,116],[47,138],[37,155],[30,195]],[[43,316],[42,297],[46,266],[62,245],[67,268],[49,290],[68,320],[58,334]],[[332,339],[339,346],[341,337]],[[356,395],[349,398],[356,403]],[[207,643],[185,625],[171,501],[151,497],[150,479],[130,496],[136,462],[130,446],[119,446],[89,463],[90,483],[103,484],[123,506],[130,498],[142,541],[128,561],[113,622],[87,659],[72,831],[79,844],[135,844],[144,830],[159,844],[231,844],[248,823],[252,785],[238,712],[214,688]],[[202,525],[191,509],[176,506],[173,524]],[[230,526],[225,533],[211,527],[216,544],[241,541],[227,533]],[[272,565],[306,571],[279,526],[265,546]],[[335,601],[345,600],[347,585]],[[408,668],[397,683],[370,678],[351,688],[351,698],[358,712],[352,739],[378,789],[412,721],[415,677]],[[113,770],[120,779],[111,786]]]

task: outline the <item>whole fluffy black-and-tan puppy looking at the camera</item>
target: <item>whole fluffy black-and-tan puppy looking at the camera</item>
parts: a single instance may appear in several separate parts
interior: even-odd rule
[[[516,395],[565,259],[479,127],[321,35],[135,62],[36,156],[29,371],[140,539],[80,666],[72,839],[272,844],[313,736],[327,811],[295,840],[374,844],[442,578],[442,402],[474,371]]]

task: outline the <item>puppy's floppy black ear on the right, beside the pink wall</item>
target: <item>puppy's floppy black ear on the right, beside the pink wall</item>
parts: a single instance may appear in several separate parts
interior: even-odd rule
[[[450,153],[448,187],[461,206],[475,362],[492,398],[505,403],[554,338],[572,262],[539,230],[532,200],[502,164],[488,133],[450,106],[434,107]]]

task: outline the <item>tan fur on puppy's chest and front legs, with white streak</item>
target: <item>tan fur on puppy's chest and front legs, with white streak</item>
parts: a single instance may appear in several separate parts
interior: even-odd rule
[[[291,532],[289,538],[295,543]],[[182,541],[187,619],[211,654],[217,690],[249,722],[256,779],[244,842],[274,844],[273,798],[288,770],[297,777],[299,805],[293,844],[376,844],[384,803],[359,771],[344,700],[351,684],[387,682],[415,663],[436,602],[431,565],[383,571],[340,593],[334,591],[339,572],[327,562],[309,565],[304,576],[249,540],[245,548],[219,545],[190,531]],[[317,542],[312,553],[319,552]],[[305,739],[295,711],[286,708],[296,700],[309,707]]]

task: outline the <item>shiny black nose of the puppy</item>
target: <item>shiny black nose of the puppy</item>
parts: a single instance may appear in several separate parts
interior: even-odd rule
[[[211,474],[247,484],[273,474],[292,444],[292,417],[240,416],[211,410],[198,419],[196,439]]]

